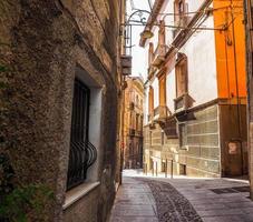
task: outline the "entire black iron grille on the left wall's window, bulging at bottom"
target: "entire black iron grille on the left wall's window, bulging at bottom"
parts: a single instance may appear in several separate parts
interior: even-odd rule
[[[87,178],[88,168],[97,159],[96,148],[88,141],[90,90],[75,80],[67,190]]]

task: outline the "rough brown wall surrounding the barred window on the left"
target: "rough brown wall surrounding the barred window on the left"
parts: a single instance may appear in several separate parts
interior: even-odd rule
[[[9,142],[1,151],[9,153],[19,183],[43,183],[53,191],[56,199],[43,221],[64,218],[77,64],[100,85],[101,198],[99,203],[95,198],[87,201],[97,205],[93,213],[100,215],[98,221],[105,221],[119,168],[115,164],[119,1],[1,1],[0,26],[0,63],[9,70],[1,77],[8,83],[1,90],[1,99],[8,101],[1,101],[8,109],[1,115],[6,122],[1,132]],[[71,211],[80,220],[96,218],[88,210]]]

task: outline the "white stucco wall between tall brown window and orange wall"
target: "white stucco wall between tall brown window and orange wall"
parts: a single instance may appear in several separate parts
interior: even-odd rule
[[[203,27],[213,27],[213,17]],[[184,49],[188,59],[188,93],[198,105],[217,98],[214,31],[198,31]],[[196,53],[197,52],[197,53]]]

